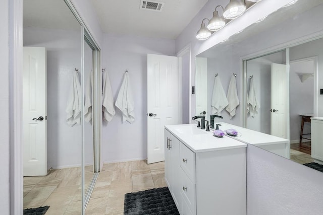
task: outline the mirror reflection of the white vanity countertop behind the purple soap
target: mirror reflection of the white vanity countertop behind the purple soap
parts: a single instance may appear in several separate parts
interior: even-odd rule
[[[273,136],[266,133],[261,133],[240,126],[228,124],[225,122],[214,123],[214,126],[216,126],[215,124],[221,124],[221,126],[219,126],[219,129],[221,130],[227,130],[230,128],[236,129],[238,131],[238,135],[232,136],[232,138],[241,140],[243,142],[247,142],[248,144],[252,144],[255,146],[282,144],[285,142],[290,142],[289,139]]]

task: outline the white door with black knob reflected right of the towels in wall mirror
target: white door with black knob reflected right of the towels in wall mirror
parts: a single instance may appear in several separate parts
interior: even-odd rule
[[[288,76],[286,64],[272,63],[271,75],[271,134],[274,136],[287,137],[287,109],[289,103]]]

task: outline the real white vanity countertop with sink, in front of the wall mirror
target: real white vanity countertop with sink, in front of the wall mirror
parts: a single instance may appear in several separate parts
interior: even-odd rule
[[[196,124],[166,125],[166,129],[195,153],[247,147],[241,141],[228,136],[215,137],[212,131],[205,131]]]

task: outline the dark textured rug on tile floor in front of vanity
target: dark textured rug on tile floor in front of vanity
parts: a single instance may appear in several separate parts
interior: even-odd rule
[[[168,187],[125,194],[124,214],[179,215]]]

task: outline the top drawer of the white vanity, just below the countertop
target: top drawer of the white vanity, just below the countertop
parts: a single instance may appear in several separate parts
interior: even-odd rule
[[[184,170],[188,178],[195,184],[195,153],[193,153],[184,144],[182,144],[182,142],[180,147],[180,166]]]

